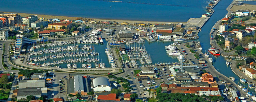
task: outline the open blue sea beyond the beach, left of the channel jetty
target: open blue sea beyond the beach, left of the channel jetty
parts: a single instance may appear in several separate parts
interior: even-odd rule
[[[210,0],[0,0],[0,11],[102,19],[186,22]],[[4,4],[4,5],[3,5]]]

